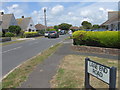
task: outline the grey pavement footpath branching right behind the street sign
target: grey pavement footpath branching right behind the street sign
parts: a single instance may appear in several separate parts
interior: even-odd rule
[[[19,88],[50,88],[50,80],[56,74],[60,61],[64,56],[69,54],[97,56],[118,60],[118,56],[76,52],[72,50],[71,45],[72,40],[64,41],[63,45],[53,55],[49,56],[33,70],[27,81],[23,82]]]

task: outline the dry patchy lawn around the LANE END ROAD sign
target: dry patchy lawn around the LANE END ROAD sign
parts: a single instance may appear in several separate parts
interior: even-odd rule
[[[53,79],[50,81],[52,88],[84,88],[85,58],[88,56],[68,55],[65,56]],[[90,56],[92,60],[107,66],[118,67],[117,60],[103,59]],[[94,88],[108,88],[108,85],[95,77],[90,77],[90,83]],[[117,73],[118,82],[118,73]],[[118,87],[118,83],[117,83]]]

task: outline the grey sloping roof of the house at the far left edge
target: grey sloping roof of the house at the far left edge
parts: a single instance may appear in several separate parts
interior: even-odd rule
[[[0,15],[0,20],[2,19],[2,28],[8,29],[10,25],[10,21],[14,15],[13,14],[3,14]]]

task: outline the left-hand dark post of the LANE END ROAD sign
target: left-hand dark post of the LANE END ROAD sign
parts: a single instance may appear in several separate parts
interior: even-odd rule
[[[88,71],[88,60],[89,58],[85,58],[85,88],[90,88],[90,75]]]

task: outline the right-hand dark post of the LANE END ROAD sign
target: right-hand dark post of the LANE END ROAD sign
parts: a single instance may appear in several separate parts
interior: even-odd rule
[[[110,85],[109,85],[110,90],[116,89],[116,70],[117,68],[115,67],[111,67],[110,69]]]

